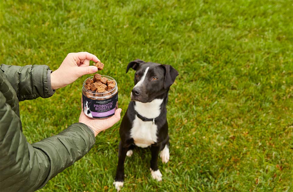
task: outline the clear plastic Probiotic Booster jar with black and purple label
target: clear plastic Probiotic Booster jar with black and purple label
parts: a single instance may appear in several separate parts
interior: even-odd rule
[[[82,102],[84,114],[92,119],[107,119],[115,114],[118,108],[118,87],[115,79],[102,75],[110,81],[115,81],[115,87],[103,93],[90,91],[85,88],[85,82],[82,85]]]

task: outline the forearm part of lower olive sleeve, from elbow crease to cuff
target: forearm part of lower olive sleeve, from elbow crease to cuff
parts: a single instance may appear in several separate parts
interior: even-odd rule
[[[36,150],[46,154],[46,160],[50,164],[48,175],[38,189],[87,154],[94,144],[94,134],[82,123],[74,123],[58,135],[32,144]]]

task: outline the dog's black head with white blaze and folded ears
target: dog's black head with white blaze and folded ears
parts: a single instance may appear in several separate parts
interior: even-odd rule
[[[177,70],[170,65],[144,62],[140,59],[130,62],[126,73],[130,68],[136,70],[131,100],[143,103],[163,98],[178,75]]]

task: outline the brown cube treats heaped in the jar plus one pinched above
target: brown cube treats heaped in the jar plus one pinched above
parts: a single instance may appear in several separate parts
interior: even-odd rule
[[[98,70],[102,70],[104,68],[104,64],[101,62],[96,62],[95,66]],[[106,77],[102,77],[100,74],[96,73],[93,79],[88,79],[85,82],[84,87],[90,91],[103,93],[113,89],[115,87],[115,81],[109,81]]]

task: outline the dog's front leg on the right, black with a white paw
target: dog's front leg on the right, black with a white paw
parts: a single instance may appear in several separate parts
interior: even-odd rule
[[[160,148],[161,148],[161,145],[159,145],[159,146],[152,145],[151,146],[152,159],[151,159],[150,170],[151,170],[152,178],[154,178],[158,181],[162,181],[162,173],[158,169],[158,155],[159,155]]]

